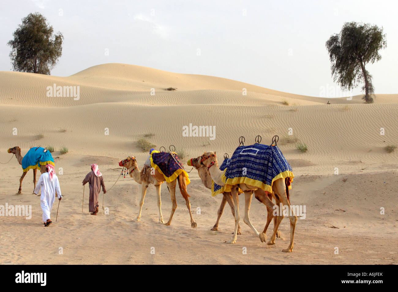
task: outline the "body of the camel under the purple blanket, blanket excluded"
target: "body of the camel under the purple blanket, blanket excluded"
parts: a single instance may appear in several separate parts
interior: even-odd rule
[[[158,208],[159,208],[159,223],[164,223],[163,221],[163,216],[162,216],[162,202],[160,201],[160,187],[163,182],[166,182],[163,174],[158,172],[158,170],[154,170],[154,174],[149,173],[149,169],[146,169],[145,167],[142,169],[142,171],[139,170],[137,161],[135,157],[127,157],[126,159],[123,159],[122,161],[119,162],[119,166],[124,166],[127,168],[129,171],[130,177],[133,178],[137,183],[141,185],[141,200],[140,200],[140,212],[137,216],[137,221],[140,221],[141,219],[141,211],[142,211],[142,205],[144,204],[144,197],[146,194],[146,188],[148,188],[149,184],[153,184],[156,188],[156,193],[158,195]],[[145,173],[146,171],[146,173]],[[178,186],[179,190],[181,191],[181,195],[185,199],[185,203],[187,205],[188,211],[189,211],[189,216],[191,217],[191,227],[196,228],[197,224],[195,220],[193,220],[192,213],[191,213],[191,203],[189,202],[189,195],[187,193],[187,183],[185,180],[184,174],[179,174],[176,180],[172,182],[166,182],[167,188],[170,192],[170,197],[172,199],[172,211],[170,213],[170,219],[168,222],[165,224],[169,226],[172,222],[172,218],[174,215],[174,212],[177,209],[177,202],[176,202],[176,184],[178,181]]]

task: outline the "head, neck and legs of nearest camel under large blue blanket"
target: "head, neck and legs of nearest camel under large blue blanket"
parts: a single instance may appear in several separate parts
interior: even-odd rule
[[[212,180],[220,186],[225,186],[225,183],[222,181],[222,178],[221,178],[223,172],[219,169],[219,166],[217,163],[216,152],[210,151],[210,152],[203,153],[200,161],[208,168],[209,174],[210,174]],[[212,167],[212,166],[215,166],[215,167]],[[292,210],[290,201],[289,201],[289,189],[288,189],[289,185],[290,185],[290,182],[289,182],[288,178],[287,179],[283,179],[283,178],[277,179],[272,184],[272,191],[273,191],[275,198],[277,198],[277,204],[279,204],[279,201],[280,201],[284,206],[288,206],[289,210]],[[245,194],[245,214],[244,214],[243,222],[245,222],[246,224],[248,224],[248,226],[250,226],[250,228],[252,228],[252,230],[254,231],[256,236],[258,236],[260,238],[261,242],[265,242],[267,240],[267,236],[265,235],[265,233],[264,232],[259,233],[256,230],[256,228],[254,228],[253,224],[250,222],[250,219],[249,219],[250,204],[252,202],[253,192],[255,189],[257,189],[257,187],[250,186],[247,184],[237,184],[237,185],[232,186],[232,189],[231,189],[231,195],[232,195],[232,199],[233,199],[234,205],[235,205],[235,214],[234,214],[235,229],[234,229],[234,234],[232,235],[232,238],[230,240],[226,241],[226,243],[228,243],[228,244],[236,243],[236,238],[237,238],[236,234],[238,231],[238,224],[239,224],[239,220],[240,220],[239,197],[238,197],[239,188]],[[265,197],[265,201],[267,201],[267,205],[270,205],[270,206],[272,206],[271,208],[273,208],[274,203],[272,203],[272,201],[269,200],[268,197]],[[279,213],[279,214],[281,214],[281,213]],[[272,234],[269,242],[267,242],[268,245],[275,244],[276,232],[277,232],[279,224],[281,223],[283,218],[284,218],[283,214],[277,216],[273,234]],[[292,210],[292,216],[290,216],[290,212],[289,212],[289,219],[290,219],[290,244],[286,249],[282,250],[283,252],[293,251],[293,240],[294,240],[295,227],[296,227],[296,222],[297,222],[297,216],[295,215],[293,210]]]

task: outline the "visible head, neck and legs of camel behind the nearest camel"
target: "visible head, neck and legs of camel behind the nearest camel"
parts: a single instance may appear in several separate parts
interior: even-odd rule
[[[199,177],[201,178],[203,185],[211,190],[212,187],[212,179],[209,173],[209,169],[207,167],[205,167],[204,164],[200,164],[201,160],[201,156],[197,157],[197,158],[191,158],[188,161],[188,165],[195,167],[195,169],[198,171]],[[261,190],[261,189],[257,189],[254,191],[254,195],[256,197],[256,199],[258,199],[258,201],[260,201],[261,203],[263,203],[266,207],[267,207],[267,223],[265,225],[265,228],[263,230],[263,233],[266,234],[267,232],[267,228],[269,226],[269,223],[271,222],[272,218],[274,218],[274,226],[276,225],[276,217],[273,216],[273,210],[271,208],[271,206],[269,206],[269,201],[265,200],[265,196],[267,196],[269,198],[269,200],[272,201],[272,194],[267,194],[265,193],[265,191]],[[275,201],[279,202],[279,200],[277,200],[275,198]],[[222,213],[224,212],[224,208],[226,205],[226,202],[228,202],[231,211],[232,211],[232,216],[235,217],[235,207],[234,207],[234,202],[232,200],[232,195],[230,191],[224,191],[222,193],[222,201],[219,207],[219,210],[217,211],[217,221],[214,224],[214,226],[210,229],[210,230],[214,230],[214,231],[218,231],[219,230],[219,222],[220,222],[220,218],[222,216]],[[268,204],[268,205],[267,205]],[[240,230],[240,224],[238,224],[238,231],[237,231],[238,235],[241,234],[241,230]],[[277,237],[280,238],[281,237],[281,232],[278,230],[277,231]]]

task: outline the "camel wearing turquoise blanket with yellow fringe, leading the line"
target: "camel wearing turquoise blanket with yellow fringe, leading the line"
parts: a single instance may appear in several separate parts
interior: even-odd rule
[[[8,149],[8,153],[15,154],[18,163],[21,164],[23,173],[20,178],[20,188],[18,193],[21,193],[22,181],[29,169],[33,169],[33,191],[36,188],[36,172],[40,169],[41,174],[46,172],[47,164],[54,164],[53,156],[50,151],[43,147],[31,147],[25,156],[21,155],[21,148],[16,146]],[[34,192],[33,192],[34,193]]]

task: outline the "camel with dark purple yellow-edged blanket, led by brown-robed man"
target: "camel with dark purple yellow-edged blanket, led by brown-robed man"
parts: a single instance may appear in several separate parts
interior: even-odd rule
[[[183,168],[181,162],[179,162],[178,155],[175,152],[159,152],[151,149],[149,161],[151,165],[148,166],[144,164],[142,170],[139,170],[137,161],[133,156],[129,156],[119,162],[119,166],[127,168],[127,174],[130,174],[130,177],[141,185],[140,211],[136,220],[140,221],[141,219],[146,189],[149,184],[153,184],[158,196],[159,223],[164,223],[161,208],[162,202],[160,200],[160,187],[162,183],[166,182],[172,199],[172,211],[170,213],[170,219],[165,225],[170,225],[174,212],[177,209],[176,184],[178,182],[179,190],[185,199],[185,204],[187,205],[189,216],[191,217],[191,227],[196,228],[197,224],[195,220],[193,220],[191,213],[190,196],[187,193],[187,184],[189,184],[190,181],[187,172]]]

